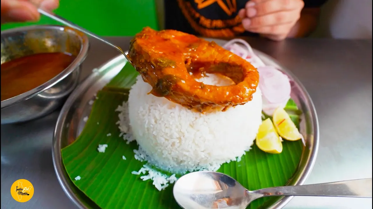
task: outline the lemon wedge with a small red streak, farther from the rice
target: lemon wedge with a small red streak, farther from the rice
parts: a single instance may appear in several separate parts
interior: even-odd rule
[[[297,141],[302,138],[297,126],[295,126],[289,114],[283,108],[278,107],[275,112],[273,112],[272,119],[278,134],[282,138],[289,141]]]

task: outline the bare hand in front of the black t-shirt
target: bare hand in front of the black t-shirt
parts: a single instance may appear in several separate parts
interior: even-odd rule
[[[303,0],[250,0],[238,15],[245,30],[281,41],[297,23],[303,7]]]

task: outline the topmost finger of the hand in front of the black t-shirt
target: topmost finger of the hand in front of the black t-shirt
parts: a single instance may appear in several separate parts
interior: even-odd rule
[[[250,0],[246,3],[247,17],[263,16],[286,10],[300,11],[304,2],[300,0]]]

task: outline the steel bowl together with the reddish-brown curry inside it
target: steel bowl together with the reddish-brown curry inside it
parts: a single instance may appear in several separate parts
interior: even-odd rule
[[[89,40],[65,26],[1,31],[1,124],[25,122],[62,106],[79,83]]]

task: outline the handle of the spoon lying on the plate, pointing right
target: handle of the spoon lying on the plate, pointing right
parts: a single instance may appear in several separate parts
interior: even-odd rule
[[[372,178],[301,186],[281,186],[249,191],[256,198],[264,196],[334,196],[372,198]]]

